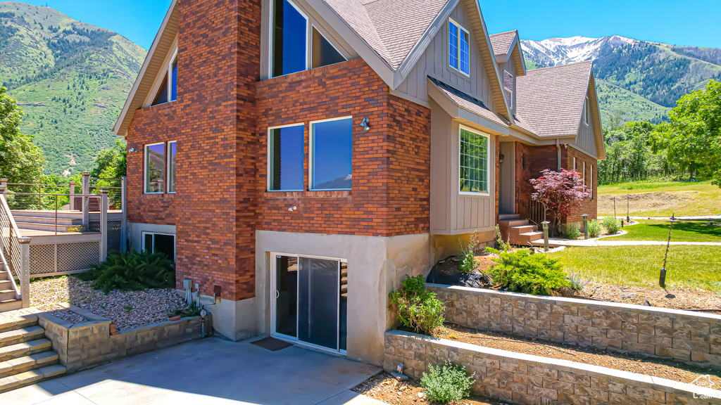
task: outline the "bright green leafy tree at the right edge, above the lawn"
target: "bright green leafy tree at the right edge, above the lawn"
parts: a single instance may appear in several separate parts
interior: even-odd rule
[[[686,94],[653,134],[654,146],[668,159],[696,175],[710,177],[721,187],[721,83]]]

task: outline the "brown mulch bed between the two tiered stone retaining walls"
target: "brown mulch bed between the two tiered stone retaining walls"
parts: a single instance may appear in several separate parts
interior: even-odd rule
[[[630,373],[668,378],[669,380],[683,383],[691,383],[691,381],[702,375],[710,374],[713,383],[715,383],[716,386],[721,386],[721,373],[718,371],[707,368],[694,368],[673,361],[649,360],[634,355],[617,354],[568,344],[534,342],[529,339],[512,337],[508,334],[492,331],[477,331],[476,329],[465,328],[454,324],[446,324],[446,327],[439,328],[435,336],[493,349],[508,350],[510,352],[519,352],[541,357],[552,357],[554,359],[582,362],[584,364],[598,365],[614,370],[628,371]]]

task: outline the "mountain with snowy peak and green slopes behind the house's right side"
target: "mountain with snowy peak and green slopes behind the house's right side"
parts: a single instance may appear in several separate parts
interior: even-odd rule
[[[650,43],[619,35],[522,40],[531,66],[593,60],[603,126],[665,119],[676,100],[721,80],[721,49]]]

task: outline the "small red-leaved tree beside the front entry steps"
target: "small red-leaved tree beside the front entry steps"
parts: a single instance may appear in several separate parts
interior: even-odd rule
[[[561,221],[590,197],[590,191],[585,190],[583,179],[575,170],[555,172],[545,169],[541,174],[538,179],[531,179],[534,186],[531,198],[546,205],[553,219],[552,231],[558,232]]]

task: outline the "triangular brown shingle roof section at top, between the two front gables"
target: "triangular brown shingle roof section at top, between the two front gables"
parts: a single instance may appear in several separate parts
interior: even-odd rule
[[[453,0],[324,0],[396,70]]]

